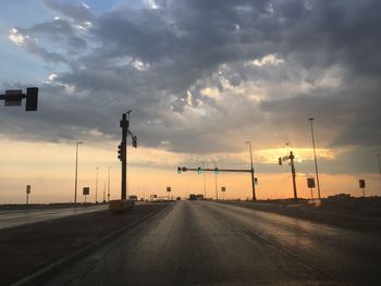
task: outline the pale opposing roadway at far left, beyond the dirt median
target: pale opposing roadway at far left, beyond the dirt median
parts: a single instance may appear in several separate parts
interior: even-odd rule
[[[29,210],[2,210],[0,211],[0,229],[14,227],[24,224],[37,223],[41,221],[54,220],[70,215],[89,213],[107,210],[108,204],[77,208],[57,209],[29,209]]]

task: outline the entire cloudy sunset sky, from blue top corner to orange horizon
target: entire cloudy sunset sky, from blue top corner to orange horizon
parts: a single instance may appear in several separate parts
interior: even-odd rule
[[[39,87],[37,112],[0,107],[0,203],[71,201],[78,188],[120,196],[119,121],[131,113],[128,192],[204,192],[177,166],[249,169],[260,199],[380,196],[381,2],[378,0],[0,1],[0,94]],[[286,145],[287,144],[287,145]],[[96,187],[96,169],[98,187]],[[249,174],[218,175],[225,198],[250,197]],[[214,197],[216,176],[206,175]],[[316,191],[316,190],[315,190]],[[220,197],[222,196],[219,194]],[[81,196],[81,199],[83,197]]]

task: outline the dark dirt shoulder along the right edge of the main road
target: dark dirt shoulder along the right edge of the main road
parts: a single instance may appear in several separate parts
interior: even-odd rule
[[[314,201],[223,201],[223,203],[279,213],[381,236],[380,197],[351,198],[346,200],[322,199]]]

